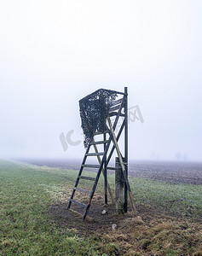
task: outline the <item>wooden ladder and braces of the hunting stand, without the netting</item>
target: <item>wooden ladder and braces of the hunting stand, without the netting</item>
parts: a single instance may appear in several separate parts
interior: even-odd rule
[[[127,96],[127,95],[125,94],[124,96]],[[120,130],[118,132],[118,136],[117,137],[115,136],[115,132],[114,132],[115,129],[116,129],[116,125],[118,124],[118,118],[120,116],[124,116],[125,117],[127,115],[127,113],[123,114],[121,112],[122,108],[124,108],[124,106],[125,106],[124,105],[125,104],[124,96],[123,96],[123,98],[118,99],[117,101],[113,102],[113,104],[111,104],[111,108],[109,110],[109,115],[107,117],[107,122],[108,122],[108,125],[109,125],[109,130],[104,131],[104,132],[96,131],[94,133],[94,135],[93,135],[89,145],[88,145],[88,148],[86,149],[85,154],[84,154],[84,159],[82,161],[80,170],[78,172],[78,177],[77,177],[76,183],[75,183],[75,185],[73,187],[72,195],[71,195],[71,198],[69,200],[68,207],[67,207],[67,209],[69,209],[71,207],[72,203],[77,204],[79,207],[83,207],[84,208],[84,217],[83,217],[83,219],[86,218],[86,216],[87,216],[87,214],[89,212],[89,207],[90,207],[92,198],[93,198],[93,196],[95,194],[95,189],[96,189],[97,183],[99,181],[99,178],[101,176],[101,172],[103,173],[103,175],[105,177],[105,202],[107,203],[107,191],[106,190],[108,189],[108,192],[109,192],[109,194],[111,196],[111,199],[112,199],[112,201],[114,203],[113,193],[112,193],[112,191],[110,189],[109,184],[107,183],[107,169],[115,170],[115,168],[108,167],[107,165],[108,165],[109,160],[111,159],[111,157],[113,155],[113,151],[114,151],[115,148],[116,148],[116,151],[118,153],[118,158],[119,158],[119,162],[120,162],[122,171],[124,173],[126,195],[127,195],[127,191],[128,191],[129,195],[130,195],[130,201],[132,203],[133,212],[136,212],[135,202],[134,202],[131,190],[130,190],[130,183],[128,181],[127,172],[126,172],[125,167],[124,167],[122,155],[121,155],[120,150],[118,148],[118,139],[120,137],[121,132],[124,129],[124,122],[121,125],[121,128],[120,128]],[[116,111],[118,111],[118,112],[116,112]],[[113,123],[112,123],[112,121],[110,119],[111,116],[116,116],[116,118],[115,118]],[[107,138],[107,136],[106,136],[107,133],[109,134],[108,139],[106,139]],[[97,135],[101,135],[101,134],[103,134],[103,140],[95,141],[94,137],[97,136]],[[107,153],[109,151],[110,144],[112,142],[113,142],[113,148],[111,149],[111,152],[110,152],[110,154],[107,157]],[[99,145],[99,144],[103,145],[103,149],[104,149],[103,152],[99,152],[98,151],[97,145]],[[90,148],[92,146],[95,149],[95,153],[89,153],[89,150],[90,150]],[[87,158],[91,157],[91,156],[96,156],[97,157],[99,165],[95,165],[95,164],[94,165],[89,165],[89,164],[86,164]],[[84,168],[93,168],[93,169],[98,170],[96,177],[83,176],[82,173],[84,172]],[[79,181],[81,179],[85,179],[85,180],[89,180],[89,181],[94,182],[91,191],[86,190],[86,189],[81,189],[81,188],[78,187]],[[77,190],[80,191],[80,192],[89,194],[89,200],[88,200],[87,204],[84,204],[82,202],[74,200],[74,195],[75,195],[75,192]]]

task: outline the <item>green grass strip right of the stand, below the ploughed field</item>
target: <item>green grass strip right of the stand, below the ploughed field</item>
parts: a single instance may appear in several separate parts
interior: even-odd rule
[[[179,216],[202,218],[202,185],[131,179],[137,203],[149,204]]]

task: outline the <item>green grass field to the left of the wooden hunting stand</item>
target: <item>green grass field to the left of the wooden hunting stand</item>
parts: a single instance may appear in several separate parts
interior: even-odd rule
[[[44,172],[40,168],[1,161],[1,255],[101,254],[94,249],[92,241],[56,227],[48,214],[49,205],[55,201],[52,195],[66,182],[65,173]]]

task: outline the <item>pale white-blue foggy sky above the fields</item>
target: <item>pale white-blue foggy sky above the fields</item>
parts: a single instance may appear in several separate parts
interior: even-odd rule
[[[129,90],[132,160],[202,160],[202,2],[1,1],[0,156],[82,159],[78,101]],[[74,143],[61,143],[60,136]],[[75,144],[76,142],[76,144]]]

